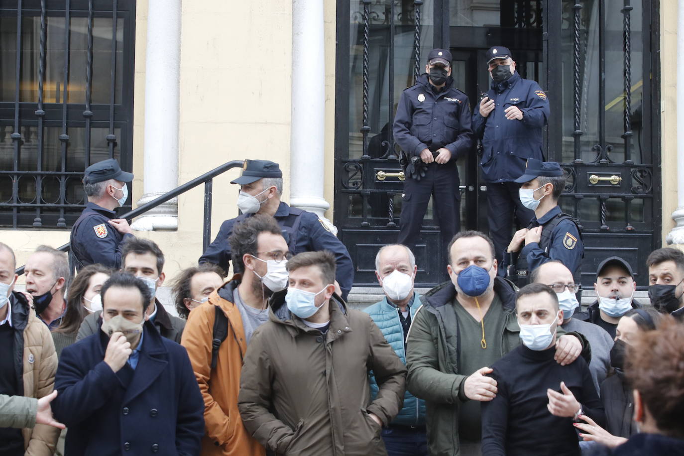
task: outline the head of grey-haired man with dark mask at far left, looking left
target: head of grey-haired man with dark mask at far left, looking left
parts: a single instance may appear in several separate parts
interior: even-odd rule
[[[66,254],[49,245],[39,245],[26,260],[26,291],[34,297],[38,318],[54,331],[62,323],[66,310],[64,291],[69,282]]]

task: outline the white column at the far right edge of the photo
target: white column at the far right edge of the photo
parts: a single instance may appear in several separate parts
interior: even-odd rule
[[[684,2],[677,11],[677,55],[684,52]],[[677,209],[672,213],[676,226],[668,233],[668,244],[684,244],[684,75],[677,72]]]

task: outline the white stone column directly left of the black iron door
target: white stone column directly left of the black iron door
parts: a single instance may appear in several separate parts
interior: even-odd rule
[[[324,198],[323,186],[326,104],[323,25],[323,0],[293,0],[290,204],[316,213],[328,222],[324,213],[330,204]]]

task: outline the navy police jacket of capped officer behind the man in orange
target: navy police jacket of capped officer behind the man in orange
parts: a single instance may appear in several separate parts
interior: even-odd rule
[[[223,222],[216,239],[200,256],[199,263],[214,263],[227,273],[228,261],[231,260],[231,245],[228,243],[228,237],[233,233],[233,225],[247,217],[250,217],[250,214],[239,215]],[[282,236],[285,237],[290,252],[293,254],[317,250],[330,250],[334,254],[337,263],[336,278],[345,298],[354,283],[354,266],[347,247],[330,232],[315,213],[302,211],[302,209],[280,202],[274,218],[282,228]]]

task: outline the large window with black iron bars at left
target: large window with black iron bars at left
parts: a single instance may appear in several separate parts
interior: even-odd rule
[[[0,0],[0,227],[68,228],[88,165],[131,171],[134,42],[134,0]]]

